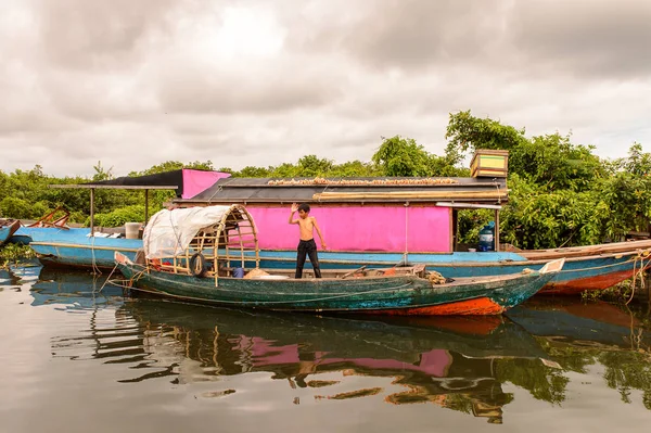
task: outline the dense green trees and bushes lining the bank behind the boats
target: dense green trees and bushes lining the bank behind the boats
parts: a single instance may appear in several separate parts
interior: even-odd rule
[[[527,137],[525,129],[473,116],[470,111],[450,114],[443,155],[430,153],[416,140],[400,136],[382,138],[368,162],[335,164],[306,155],[296,163],[246,166],[241,170],[217,168],[235,177],[467,177],[464,161],[476,149],[509,151],[509,203],[501,213],[502,242],[522,249],[575,246],[620,240],[630,231],[647,231],[651,216],[651,154],[639,143],[626,157],[608,160],[595,147],[572,142],[559,132]],[[36,219],[63,206],[71,221],[88,224],[87,190],[51,189],[54,183],[82,183],[113,178],[112,169],[98,163],[94,175],[54,177],[35,166],[31,170],[0,170],[0,216]],[[129,176],[179,168],[216,169],[210,161],[170,161]],[[150,215],[174,196],[171,191],[150,192]],[[142,192],[95,191],[97,224],[119,226],[144,219]],[[462,211],[460,241],[476,243],[478,230],[493,218],[492,212]]]

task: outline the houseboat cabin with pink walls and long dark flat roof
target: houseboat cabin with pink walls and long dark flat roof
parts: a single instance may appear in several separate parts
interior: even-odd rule
[[[457,211],[490,208],[509,199],[506,178],[227,178],[180,206],[243,204],[259,229],[260,249],[295,250],[286,224],[292,203],[308,203],[333,251],[451,253]]]

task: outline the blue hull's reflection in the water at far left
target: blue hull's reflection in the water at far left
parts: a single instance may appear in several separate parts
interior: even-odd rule
[[[38,281],[30,290],[33,306],[66,304],[74,308],[92,308],[105,304],[122,304],[123,290],[104,285],[106,276],[93,276],[85,271],[62,271],[40,268]]]

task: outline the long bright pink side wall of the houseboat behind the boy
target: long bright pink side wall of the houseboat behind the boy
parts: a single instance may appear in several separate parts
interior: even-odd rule
[[[260,249],[295,250],[298,227],[288,224],[290,207],[246,207],[258,229]],[[317,217],[329,250],[390,251],[412,253],[450,252],[451,212],[447,207],[312,206],[310,216]],[[298,214],[295,214],[298,217]],[[405,219],[408,219],[405,235]],[[315,240],[320,249],[318,234]]]

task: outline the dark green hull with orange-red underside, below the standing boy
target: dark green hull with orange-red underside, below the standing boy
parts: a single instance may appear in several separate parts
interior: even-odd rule
[[[538,292],[556,272],[459,279],[433,285],[416,275],[350,279],[197,278],[117,264],[133,289],[225,306],[312,313],[493,315]]]

